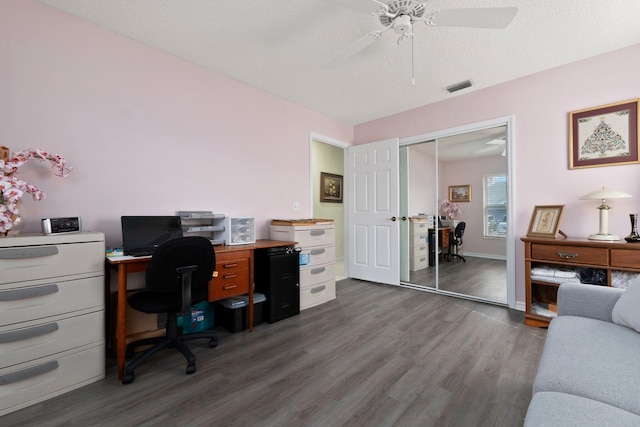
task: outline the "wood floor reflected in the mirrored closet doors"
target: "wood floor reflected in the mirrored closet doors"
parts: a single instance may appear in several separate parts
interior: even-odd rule
[[[452,258],[451,261],[438,263],[440,289],[506,304],[507,262],[472,256],[465,256],[465,259],[466,262]],[[409,281],[415,285],[435,288],[436,268],[412,271]]]

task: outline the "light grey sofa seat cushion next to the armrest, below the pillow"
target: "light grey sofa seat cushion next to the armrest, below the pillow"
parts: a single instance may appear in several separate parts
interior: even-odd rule
[[[534,392],[558,391],[640,415],[640,334],[611,322],[558,316],[549,324]]]

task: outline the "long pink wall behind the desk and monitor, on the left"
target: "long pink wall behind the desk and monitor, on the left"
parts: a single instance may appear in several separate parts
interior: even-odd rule
[[[266,238],[269,219],[310,215],[309,132],[353,139],[351,125],[35,0],[0,11],[0,145],[75,168],[64,180],[23,168],[48,196],[23,203],[25,231],[79,215],[117,245],[121,215],[191,209],[254,216]]]

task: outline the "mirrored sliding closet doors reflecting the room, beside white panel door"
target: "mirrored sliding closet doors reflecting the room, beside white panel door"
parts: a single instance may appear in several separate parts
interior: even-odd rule
[[[507,126],[400,147],[401,282],[507,304]]]

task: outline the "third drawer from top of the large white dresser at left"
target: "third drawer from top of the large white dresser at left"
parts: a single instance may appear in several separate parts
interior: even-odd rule
[[[15,329],[0,328],[0,368],[86,344],[101,344],[103,323],[104,311],[100,310],[82,316],[46,319]]]

